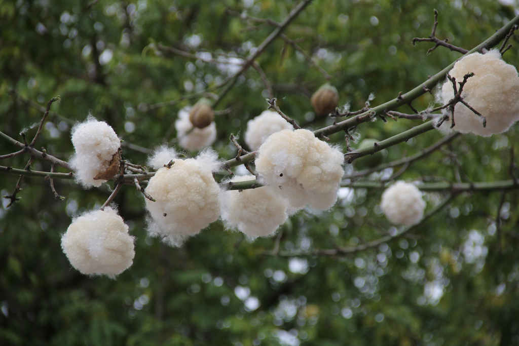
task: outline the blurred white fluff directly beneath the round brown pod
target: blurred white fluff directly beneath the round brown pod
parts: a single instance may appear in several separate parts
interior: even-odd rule
[[[179,118],[175,121],[176,137],[182,148],[197,151],[214,143],[216,140],[216,124],[213,121],[203,129],[194,127],[189,121],[189,109],[186,107],[179,112]]]

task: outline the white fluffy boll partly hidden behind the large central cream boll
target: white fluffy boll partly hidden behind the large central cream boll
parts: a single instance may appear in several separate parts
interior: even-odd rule
[[[285,129],[293,129],[292,124],[283,119],[277,112],[264,110],[260,115],[247,122],[245,143],[251,150],[257,150],[268,136]]]

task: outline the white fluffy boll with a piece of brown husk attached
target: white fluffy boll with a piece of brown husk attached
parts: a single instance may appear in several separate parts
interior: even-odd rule
[[[104,121],[88,117],[72,128],[75,154],[71,166],[76,179],[85,187],[101,186],[119,172],[121,141]]]

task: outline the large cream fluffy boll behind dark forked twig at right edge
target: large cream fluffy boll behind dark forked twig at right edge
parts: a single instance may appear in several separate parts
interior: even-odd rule
[[[501,59],[498,50],[486,54],[472,53],[460,59],[450,70],[449,75],[456,78],[456,84],[467,73],[474,73],[463,87],[461,93],[472,108],[486,117],[483,127],[482,117],[474,114],[467,106],[457,103],[454,108],[454,130],[461,133],[474,133],[490,136],[507,131],[519,120],[519,75],[513,65]],[[445,104],[454,97],[452,83],[446,80],[441,92],[436,95]],[[444,114],[448,110],[443,110]],[[450,119],[445,121],[450,126]]]

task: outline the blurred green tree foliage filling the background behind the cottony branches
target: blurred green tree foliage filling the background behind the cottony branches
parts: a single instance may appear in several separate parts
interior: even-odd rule
[[[301,11],[291,12],[297,6]],[[265,98],[275,96],[284,114],[319,129],[334,121],[315,119],[310,105],[326,81],[346,112],[366,100],[370,107],[395,100],[454,62],[458,51],[426,54],[434,44],[412,45],[430,35],[433,9],[440,13],[436,35],[466,49],[515,16],[511,6],[490,0],[2,2],[1,131],[30,141],[47,103],[60,95],[35,149],[69,159],[71,126],[91,113],[124,140],[126,159],[144,163],[152,148],[176,143],[179,109],[206,96],[216,113],[213,147],[232,159],[229,136],[243,133],[268,106]],[[515,47],[504,59],[517,65]],[[424,93],[412,106],[431,102]],[[398,111],[415,113],[407,105]],[[422,123],[380,115],[388,122],[376,117],[349,129],[347,141],[344,131],[330,134],[331,141],[347,153],[358,140],[387,139]],[[252,243],[218,221],[184,246],[169,247],[146,235],[143,196],[125,186],[114,201],[136,237],[136,254],[116,280],[80,274],[60,248],[71,217],[99,208],[113,182],[84,190],[55,178],[52,191],[48,179],[28,174],[18,184],[11,170],[0,186],[11,197],[0,209],[0,340],[519,343],[517,132],[513,126],[491,137],[445,137],[431,130],[388,148],[384,170],[359,173],[346,164],[345,187],[330,211],[301,211],[276,237]],[[0,153],[16,150],[0,141]],[[29,154],[1,163],[23,169]],[[413,155],[420,159],[406,159]],[[35,158],[31,169],[49,172],[51,165]],[[430,191],[431,216],[419,227],[397,229],[381,214],[381,181],[396,178]]]

